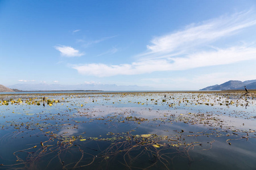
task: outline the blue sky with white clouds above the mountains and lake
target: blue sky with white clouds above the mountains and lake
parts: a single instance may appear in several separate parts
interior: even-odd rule
[[[256,79],[256,1],[0,0],[0,84]]]

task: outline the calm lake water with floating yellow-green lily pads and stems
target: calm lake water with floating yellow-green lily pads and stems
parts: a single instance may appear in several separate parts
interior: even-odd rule
[[[0,169],[256,169],[256,94],[0,95]]]

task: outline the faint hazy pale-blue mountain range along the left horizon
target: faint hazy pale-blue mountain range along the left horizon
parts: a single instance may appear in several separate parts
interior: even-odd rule
[[[103,90],[103,91],[150,91],[147,86],[117,86],[116,84],[14,84],[9,88],[17,88],[22,91],[49,91],[49,90]]]

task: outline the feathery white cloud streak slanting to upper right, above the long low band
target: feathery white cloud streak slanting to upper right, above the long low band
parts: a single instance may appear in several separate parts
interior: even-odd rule
[[[182,31],[155,37],[151,45],[147,45],[148,52],[142,54],[146,57],[161,57],[163,54],[184,53],[195,47],[204,46],[222,37],[234,35],[243,28],[256,25],[255,14],[240,12],[232,16],[222,16],[200,24],[191,24]],[[252,15],[247,19],[248,16]],[[176,55],[176,54],[175,54]]]

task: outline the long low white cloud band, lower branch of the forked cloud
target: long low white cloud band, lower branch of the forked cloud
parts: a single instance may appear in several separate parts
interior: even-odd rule
[[[86,65],[72,65],[80,74],[94,76],[136,75],[152,73],[154,71],[187,70],[197,67],[225,65],[246,60],[256,60],[256,48],[234,46],[213,52],[199,52],[187,57],[171,59],[145,59],[131,64],[105,65],[92,63]]]

